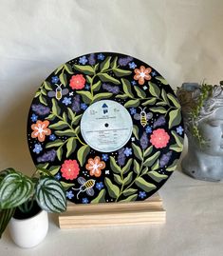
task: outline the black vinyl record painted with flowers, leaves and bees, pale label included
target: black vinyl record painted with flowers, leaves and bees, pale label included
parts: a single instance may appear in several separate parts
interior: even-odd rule
[[[68,61],[37,90],[28,147],[76,204],[144,200],[177,167],[180,106],[157,70],[120,53]]]

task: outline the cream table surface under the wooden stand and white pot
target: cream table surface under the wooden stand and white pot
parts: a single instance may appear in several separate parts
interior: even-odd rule
[[[44,242],[22,249],[7,231],[0,243],[1,256],[222,255],[222,183],[197,181],[175,171],[159,193],[166,224],[61,230],[57,216],[50,215]]]

